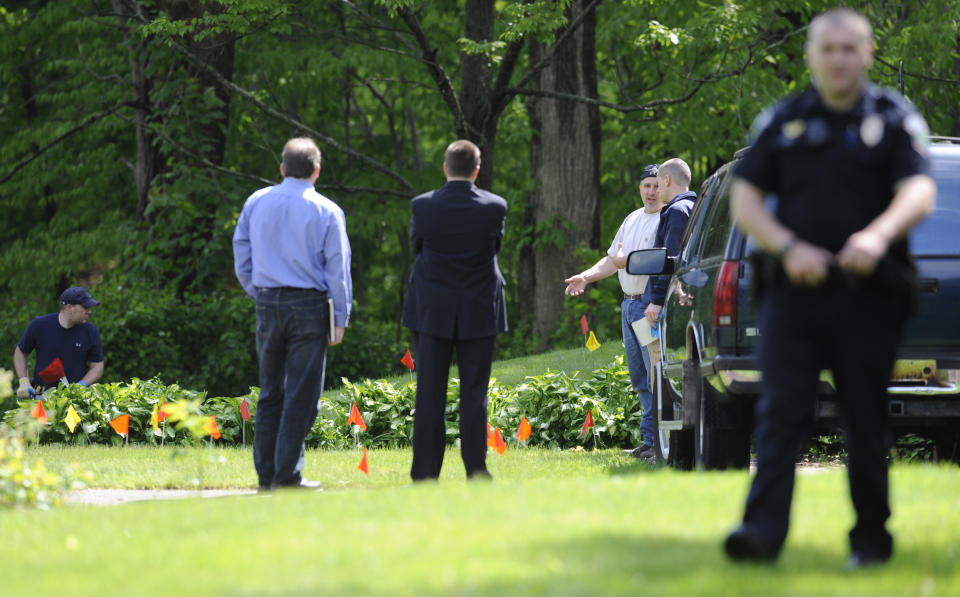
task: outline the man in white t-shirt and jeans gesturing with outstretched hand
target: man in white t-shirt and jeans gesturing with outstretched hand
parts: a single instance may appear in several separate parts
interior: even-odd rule
[[[660,224],[660,210],[663,201],[657,193],[657,172],[659,167],[651,164],[643,169],[640,176],[640,196],[643,198],[643,207],[628,215],[617,235],[607,250],[607,255],[596,262],[593,267],[564,280],[567,284],[565,293],[577,296],[586,290],[587,285],[597,280],[610,277],[616,272],[620,279],[620,288],[623,289],[623,303],[621,304],[621,326],[623,328],[623,345],[627,352],[627,368],[630,370],[630,383],[637,393],[640,406],[643,407],[643,417],[640,419],[640,434],[643,443],[630,451],[630,455],[643,460],[656,458],[653,437],[653,394],[650,392],[650,353],[646,346],[640,344],[631,323],[643,319],[643,312],[647,308],[643,302],[643,290],[647,286],[647,276],[633,276],[623,269],[626,255],[637,249],[650,249],[657,236],[657,226]]]

